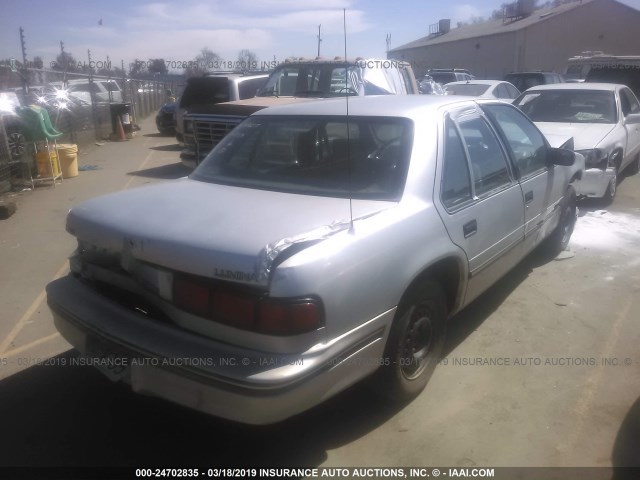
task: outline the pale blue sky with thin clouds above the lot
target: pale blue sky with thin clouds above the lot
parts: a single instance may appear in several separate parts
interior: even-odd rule
[[[262,62],[344,56],[343,9],[349,57],[386,58],[391,48],[429,33],[429,25],[450,18],[452,27],[472,17],[488,18],[505,0],[0,0],[0,60],[22,60],[19,27],[27,60],[45,64],[60,53],[60,42],[76,60],[87,50],[98,62],[125,67],[134,59],[164,58],[176,73],[204,47],[225,62],[241,49]],[[640,10],[640,0],[621,3]],[[640,54],[640,52],[638,52]],[[172,68],[172,70],[174,70]]]

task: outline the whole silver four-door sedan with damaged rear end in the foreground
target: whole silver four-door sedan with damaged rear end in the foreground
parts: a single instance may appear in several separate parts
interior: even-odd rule
[[[72,208],[71,274],[47,286],[58,330],[134,391],[240,422],[365,378],[418,395],[447,320],[566,246],[582,157],[504,102],[348,104],[261,110],[190,177]]]

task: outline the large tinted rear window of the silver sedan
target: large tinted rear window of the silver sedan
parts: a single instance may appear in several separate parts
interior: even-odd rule
[[[190,178],[305,195],[399,200],[413,136],[407,119],[250,117]]]

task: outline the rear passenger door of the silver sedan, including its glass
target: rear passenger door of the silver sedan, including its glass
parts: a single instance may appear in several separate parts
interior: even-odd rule
[[[467,255],[468,303],[520,260],[523,197],[480,109],[450,112],[442,145],[436,204],[449,237]]]

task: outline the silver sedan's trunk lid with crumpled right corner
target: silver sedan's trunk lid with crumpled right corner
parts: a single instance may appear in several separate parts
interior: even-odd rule
[[[353,201],[354,218],[394,202]],[[89,200],[67,216],[79,241],[172,270],[267,286],[289,247],[348,230],[349,200],[181,179]],[[126,267],[125,267],[126,268]]]

